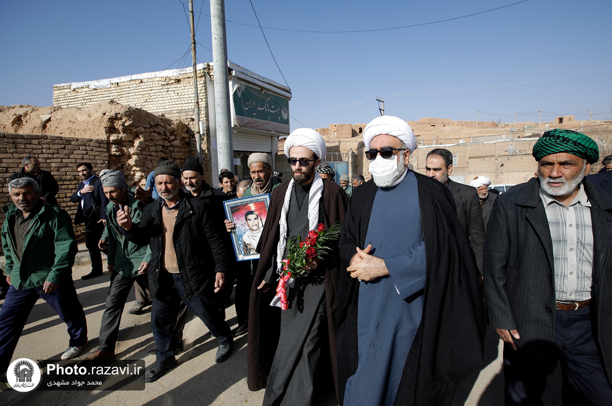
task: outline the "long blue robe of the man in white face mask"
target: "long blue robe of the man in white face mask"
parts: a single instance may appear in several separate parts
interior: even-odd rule
[[[346,382],[344,405],[392,406],[423,312],[425,243],[414,173],[378,188],[365,241],[390,276],[360,283],[359,365]]]

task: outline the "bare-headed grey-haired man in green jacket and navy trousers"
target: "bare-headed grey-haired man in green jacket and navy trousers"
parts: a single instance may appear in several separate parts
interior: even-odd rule
[[[34,179],[10,181],[9,194],[14,204],[2,207],[2,249],[11,286],[0,309],[0,371],[8,369],[39,298],[68,326],[69,348],[62,359],[75,358],[87,344],[85,312],[72,282],[76,240],[69,214],[42,201]]]

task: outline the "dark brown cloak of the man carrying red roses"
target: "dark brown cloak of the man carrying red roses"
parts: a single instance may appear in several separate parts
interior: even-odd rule
[[[346,216],[348,198],[344,190],[334,182],[324,181],[323,196],[319,200],[319,222],[329,227]],[[257,252],[259,265],[253,278],[250,306],[248,308],[248,389],[258,391],[266,387],[266,377],[270,372],[280,336],[280,307],[270,306],[276,293],[272,286],[264,293],[258,290],[267,269],[272,266],[272,257],[277,252],[279,239],[278,226],[289,182],[284,182],[272,190],[266,224],[261,232]],[[325,263],[325,299],[327,305],[327,327],[329,331],[330,355],[335,387],[337,386],[336,351],[336,298],[338,291],[338,261]],[[296,348],[300,351],[301,348]]]

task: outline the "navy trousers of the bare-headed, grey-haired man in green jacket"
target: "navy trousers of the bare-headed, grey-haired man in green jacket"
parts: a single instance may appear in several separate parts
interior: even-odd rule
[[[69,347],[87,344],[87,320],[76,296],[72,276],[62,280],[51,293],[45,293],[42,287],[21,290],[11,285],[0,309],[0,371],[6,371],[9,367],[21,332],[39,298],[45,299],[68,326]],[[35,354],[31,358],[36,358]]]

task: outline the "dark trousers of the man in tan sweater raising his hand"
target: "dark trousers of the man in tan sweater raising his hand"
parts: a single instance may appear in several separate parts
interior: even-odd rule
[[[214,284],[209,284],[209,291],[187,300],[180,274],[160,272],[158,277],[159,288],[155,293],[151,310],[151,326],[158,350],[157,364],[174,358],[174,349],[177,344],[174,327],[181,300],[189,310],[200,317],[204,325],[211,331],[212,336],[217,337],[222,343],[231,340],[230,326],[223,320],[212,298]]]

